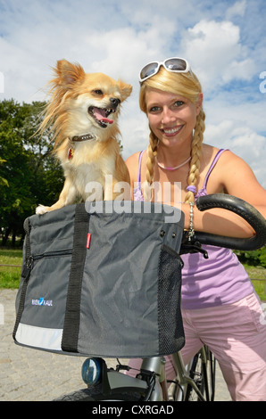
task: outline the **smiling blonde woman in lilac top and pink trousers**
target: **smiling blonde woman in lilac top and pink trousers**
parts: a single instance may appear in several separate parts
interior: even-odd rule
[[[195,231],[251,236],[251,227],[236,214],[225,209],[201,212],[193,205],[198,196],[229,193],[266,215],[266,191],[245,161],[229,150],[203,144],[203,93],[188,62],[173,58],[147,64],[140,72],[140,84],[139,103],[150,136],[147,149],[127,160],[132,198],[156,201],[153,184],[159,183],[162,191],[163,184],[168,190],[170,185],[167,203],[179,205],[174,192],[179,182],[186,229],[191,228],[194,209]],[[206,343],[220,363],[233,400],[266,400],[266,322],[260,301],[232,251],[205,249],[209,259],[201,254],[182,256],[184,361]],[[139,364],[138,360],[129,365]],[[170,362],[167,374],[174,377]]]

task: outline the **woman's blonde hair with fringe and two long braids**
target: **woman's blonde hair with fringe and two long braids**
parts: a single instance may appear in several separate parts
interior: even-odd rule
[[[197,103],[199,94],[202,93],[202,86],[194,73],[192,75],[189,72],[173,73],[161,67],[157,74],[151,78],[147,78],[140,87],[139,105],[140,109],[145,113],[145,93],[148,88],[180,94],[181,96],[187,97],[187,99],[189,99],[192,103]],[[190,190],[187,190],[185,202],[195,201],[195,187],[199,177],[202,143],[204,140],[204,120],[205,114],[203,108],[201,107],[200,112],[196,117],[194,135],[191,144],[191,160],[187,177],[187,186]],[[153,131],[150,129],[146,160],[146,183],[148,185],[152,185],[154,179],[154,164],[157,147],[158,138],[154,136]]]

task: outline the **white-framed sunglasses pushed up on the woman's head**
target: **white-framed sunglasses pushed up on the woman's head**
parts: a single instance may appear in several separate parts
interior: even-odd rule
[[[153,77],[158,73],[160,67],[163,66],[165,70],[171,71],[173,73],[187,73],[189,72],[192,75],[192,70],[187,60],[184,58],[168,58],[164,62],[150,62],[146,64],[145,67],[139,73],[139,82],[143,83],[147,78]]]

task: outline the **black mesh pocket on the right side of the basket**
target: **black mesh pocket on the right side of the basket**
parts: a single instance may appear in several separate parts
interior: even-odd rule
[[[185,344],[180,310],[182,260],[176,251],[162,244],[158,267],[159,351],[168,355]]]

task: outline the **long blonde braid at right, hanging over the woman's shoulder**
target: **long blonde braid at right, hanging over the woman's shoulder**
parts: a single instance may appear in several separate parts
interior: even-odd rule
[[[187,185],[188,186],[196,186],[198,177],[199,177],[199,169],[200,169],[200,158],[202,152],[202,144],[204,141],[204,129],[205,129],[205,114],[203,109],[199,112],[196,117],[195,122],[195,131],[194,136],[191,144],[191,161],[190,161],[190,168],[187,177]],[[194,202],[195,201],[195,193],[188,191],[185,202]]]

